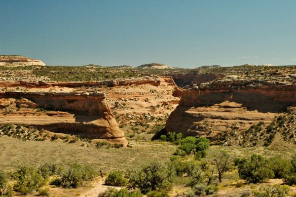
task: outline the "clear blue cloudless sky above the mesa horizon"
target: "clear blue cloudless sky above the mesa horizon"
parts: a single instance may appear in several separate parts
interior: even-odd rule
[[[296,0],[0,0],[0,54],[47,65],[296,64]]]

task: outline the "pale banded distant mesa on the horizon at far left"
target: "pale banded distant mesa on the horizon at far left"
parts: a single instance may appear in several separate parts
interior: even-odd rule
[[[0,66],[46,66],[41,60],[22,55],[0,55]]]

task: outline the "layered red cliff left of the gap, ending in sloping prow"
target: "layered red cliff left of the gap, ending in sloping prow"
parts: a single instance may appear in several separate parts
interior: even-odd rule
[[[25,98],[17,104],[47,110],[39,116],[30,109],[0,115],[0,123],[34,125],[52,132],[127,144],[102,92],[8,91],[0,93],[0,98]]]

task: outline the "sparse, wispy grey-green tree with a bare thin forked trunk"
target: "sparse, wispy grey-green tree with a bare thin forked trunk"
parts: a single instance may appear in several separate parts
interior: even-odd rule
[[[212,164],[215,165],[218,171],[219,182],[222,182],[223,173],[231,168],[231,159],[227,151],[215,151],[212,154]]]

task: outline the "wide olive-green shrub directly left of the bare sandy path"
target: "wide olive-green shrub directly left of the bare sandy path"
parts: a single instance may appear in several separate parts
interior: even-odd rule
[[[82,181],[91,180],[95,176],[95,171],[91,166],[81,166],[72,164],[62,166],[59,169],[60,185],[64,188],[76,188]]]

